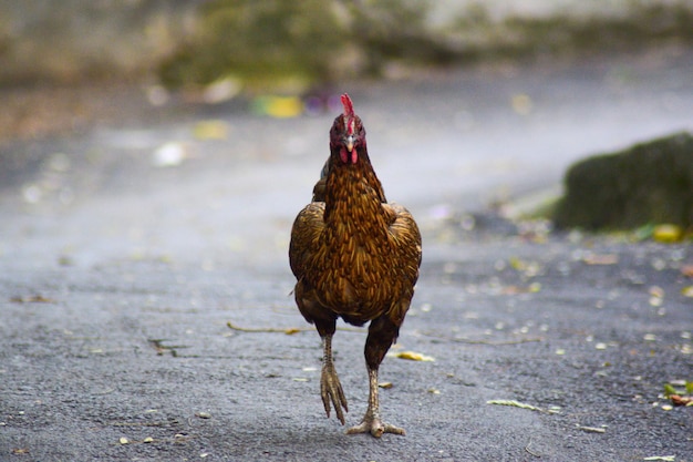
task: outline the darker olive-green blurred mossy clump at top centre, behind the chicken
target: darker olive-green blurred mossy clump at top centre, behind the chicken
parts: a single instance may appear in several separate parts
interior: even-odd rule
[[[246,89],[303,88],[377,73],[391,59],[436,60],[426,1],[214,0],[198,33],[161,66],[167,86],[231,76]]]

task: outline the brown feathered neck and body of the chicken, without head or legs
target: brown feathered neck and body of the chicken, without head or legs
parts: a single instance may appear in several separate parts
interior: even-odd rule
[[[399,327],[418,277],[421,234],[404,207],[385,203],[365,146],[358,155],[355,164],[330,156],[313,188],[318,201],[296,218],[289,257],[301,286],[297,304],[310,322],[328,312],[356,325],[386,315]]]

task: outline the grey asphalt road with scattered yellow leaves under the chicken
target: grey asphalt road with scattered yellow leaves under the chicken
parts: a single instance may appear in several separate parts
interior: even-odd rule
[[[325,419],[319,337],[285,332],[309,328],[288,235],[335,114],[169,105],[4,143],[0,460],[693,461],[693,408],[662,397],[693,380],[690,244],[489,207],[581,156],[693,130],[691,75],[689,51],[662,50],[345,85],[424,234],[392,352],[433,360],[385,359],[383,417],[407,434],[380,440]],[[364,340],[334,340],[348,424]]]

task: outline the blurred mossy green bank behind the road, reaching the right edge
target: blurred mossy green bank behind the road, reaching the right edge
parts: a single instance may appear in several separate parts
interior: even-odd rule
[[[196,32],[159,66],[169,88],[224,78],[246,91],[296,93],[343,78],[377,75],[392,62],[446,64],[537,54],[576,55],[693,42],[693,9],[635,1],[624,16],[509,16],[483,2],[431,20],[433,0],[211,0]],[[448,7],[449,8],[449,7]],[[439,12],[439,10],[438,10]]]

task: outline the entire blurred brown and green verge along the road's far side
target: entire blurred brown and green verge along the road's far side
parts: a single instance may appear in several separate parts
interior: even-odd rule
[[[0,13],[2,137],[117,116],[100,101],[123,84],[149,85],[153,104],[169,90],[215,103],[693,43],[691,0],[4,0]],[[104,83],[100,97],[85,93]]]

